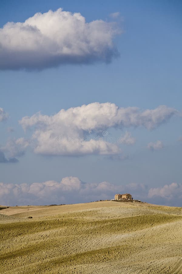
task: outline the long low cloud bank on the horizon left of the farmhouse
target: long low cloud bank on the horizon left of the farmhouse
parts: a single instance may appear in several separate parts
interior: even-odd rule
[[[0,183],[0,204],[7,204],[7,201],[11,201],[13,205],[90,202],[113,198],[114,190],[116,191],[116,187],[108,182],[89,184],[77,177],[65,177],[60,182],[45,181],[30,185]]]

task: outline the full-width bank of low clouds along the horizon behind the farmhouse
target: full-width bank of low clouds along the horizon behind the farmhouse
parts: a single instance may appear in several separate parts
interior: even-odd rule
[[[143,202],[180,206],[182,185],[172,183],[161,188],[148,188],[144,184],[114,185],[107,181],[85,183],[77,177],[65,177],[60,182],[45,181],[32,184],[0,183],[0,204],[47,205],[90,202],[113,199],[116,193],[131,193]],[[71,197],[71,198],[70,198]]]

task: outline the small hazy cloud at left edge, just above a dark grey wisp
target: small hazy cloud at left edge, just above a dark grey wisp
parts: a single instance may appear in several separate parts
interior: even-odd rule
[[[1,148],[9,157],[19,157],[25,154],[25,149],[29,146],[29,141],[24,138],[8,139],[6,145]]]

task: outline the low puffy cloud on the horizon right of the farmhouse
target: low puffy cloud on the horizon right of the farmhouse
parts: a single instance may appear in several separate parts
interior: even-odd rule
[[[166,198],[169,200],[179,200],[182,199],[182,184],[172,183],[166,184],[160,188],[150,188],[148,197],[153,198],[159,196],[161,198]]]

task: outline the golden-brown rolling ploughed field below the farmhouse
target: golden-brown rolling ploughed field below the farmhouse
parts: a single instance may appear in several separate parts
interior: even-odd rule
[[[100,201],[2,209],[0,273],[182,273],[182,208]]]

